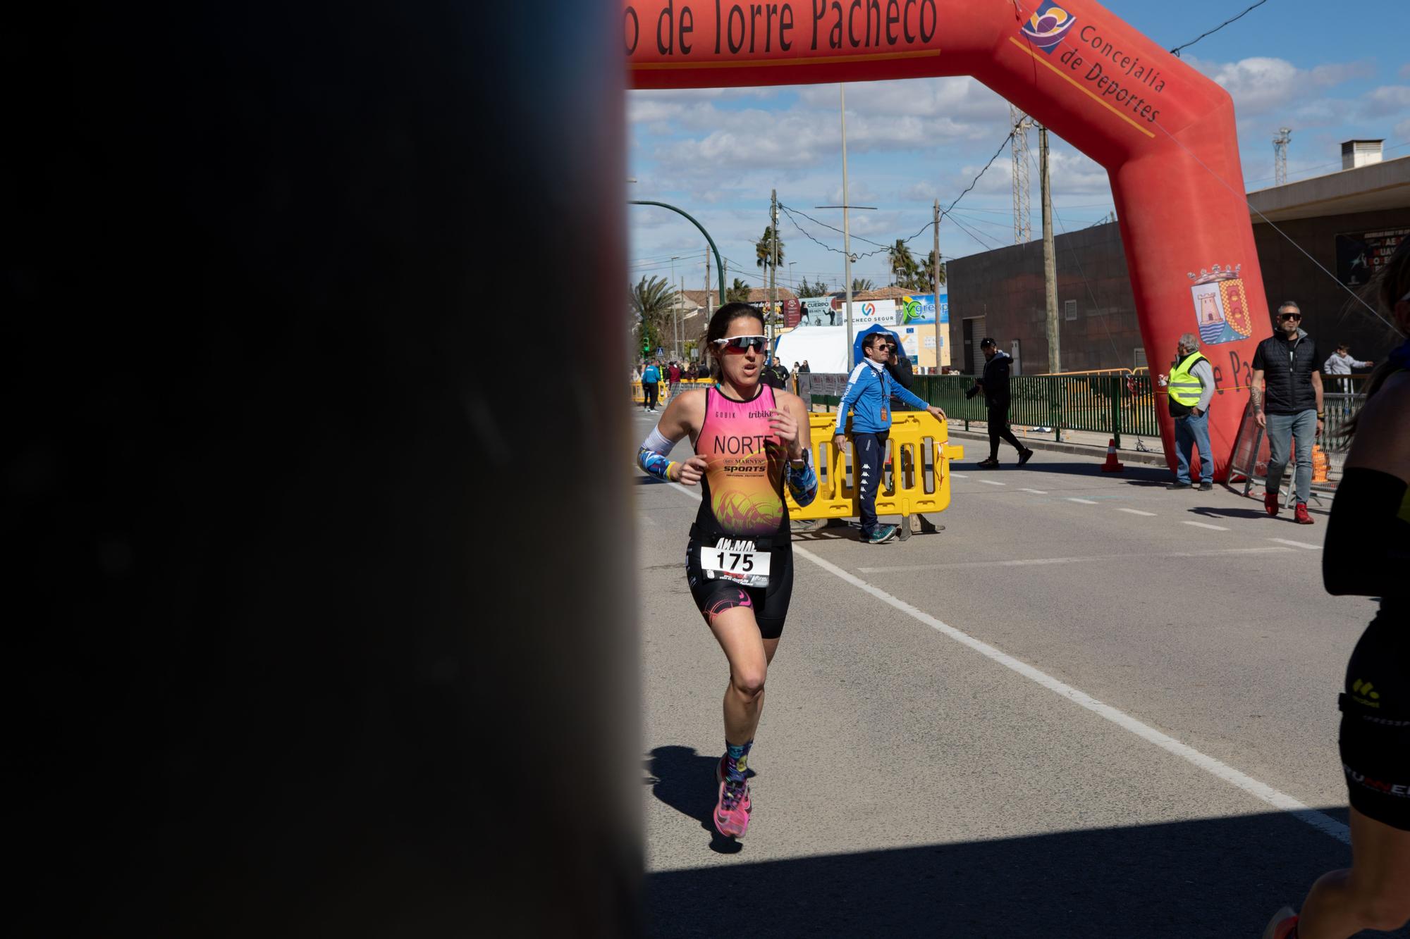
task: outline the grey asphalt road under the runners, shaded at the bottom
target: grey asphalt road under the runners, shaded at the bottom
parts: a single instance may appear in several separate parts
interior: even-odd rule
[[[1258,936],[1349,863],[1337,692],[1375,608],[1323,591],[1330,503],[967,453],[942,533],[795,536],[737,843],[698,498],[639,477],[653,935]]]

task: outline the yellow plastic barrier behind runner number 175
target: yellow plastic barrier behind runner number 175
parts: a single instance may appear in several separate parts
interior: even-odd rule
[[[846,455],[832,446],[832,429],[836,423],[836,415],[808,417],[808,427],[812,431],[812,460],[818,467],[818,498],[804,508],[794,502],[792,493],[784,488],[788,517],[795,522],[856,519],[862,515],[856,485],[847,479]],[[894,413],[890,441],[891,471],[885,474],[884,485],[877,491],[877,515],[900,515],[909,524],[912,515],[948,509],[950,460],[964,458],[964,447],[949,443],[948,424],[924,410]],[[926,447],[935,464],[929,481],[922,460]]]

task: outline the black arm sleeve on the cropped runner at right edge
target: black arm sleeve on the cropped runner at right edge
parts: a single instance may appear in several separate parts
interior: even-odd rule
[[[1338,596],[1410,598],[1410,519],[1400,517],[1404,479],[1352,467],[1342,474],[1327,522],[1323,584]]]

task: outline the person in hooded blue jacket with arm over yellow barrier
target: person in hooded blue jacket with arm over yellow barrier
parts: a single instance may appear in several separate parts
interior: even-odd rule
[[[838,426],[832,431],[832,446],[840,453],[850,409],[852,470],[857,478],[857,502],[862,503],[862,540],[870,544],[884,544],[895,537],[894,524],[877,524],[877,485],[881,482],[881,464],[885,460],[885,438],[891,433],[891,396],[945,420],[943,410],[901,388],[887,374],[885,364],[894,348],[887,333],[871,333],[862,340],[863,360],[847,378],[847,388],[838,405]]]

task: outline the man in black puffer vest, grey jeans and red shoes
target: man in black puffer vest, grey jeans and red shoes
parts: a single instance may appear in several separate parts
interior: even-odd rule
[[[1287,468],[1290,443],[1297,440],[1293,520],[1311,524],[1307,496],[1313,486],[1313,438],[1323,431],[1323,386],[1317,371],[1317,343],[1301,327],[1303,313],[1292,300],[1277,307],[1277,331],[1253,352],[1253,419],[1268,430],[1268,491],[1263,509],[1277,515],[1277,495]]]

